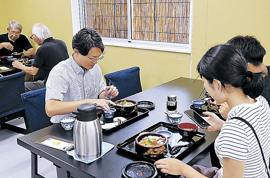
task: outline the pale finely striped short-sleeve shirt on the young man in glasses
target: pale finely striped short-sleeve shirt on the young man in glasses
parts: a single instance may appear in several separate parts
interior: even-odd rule
[[[57,99],[63,102],[97,99],[106,88],[101,69],[95,64],[92,69],[82,69],[73,59],[61,61],[54,66],[46,83],[45,101]],[[59,123],[63,117],[74,117],[72,113],[51,117],[52,123]]]

